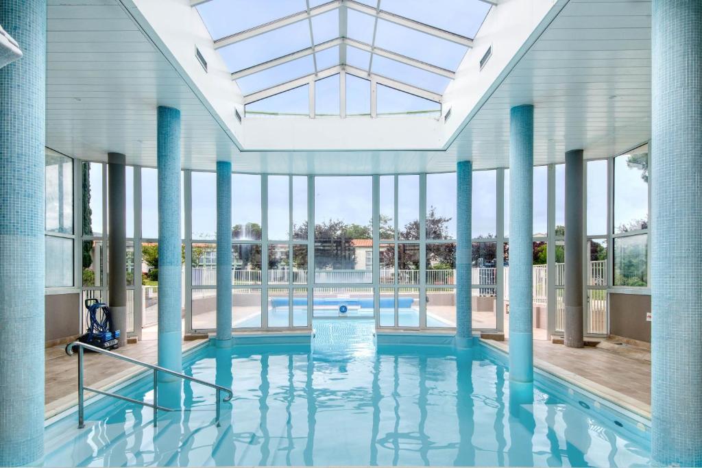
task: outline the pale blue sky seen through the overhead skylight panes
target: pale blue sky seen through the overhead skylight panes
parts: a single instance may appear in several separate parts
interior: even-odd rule
[[[312,0],[310,7],[314,8],[314,6],[324,4],[326,1]],[[362,0],[361,3],[373,6],[373,8],[378,6],[378,0]],[[212,38],[217,40],[293,13],[305,11],[305,8],[304,0],[211,0],[197,6],[197,11]],[[477,34],[490,6],[480,0],[435,0],[431,2],[425,0],[380,0],[380,9],[472,38]],[[220,48],[218,52],[230,72],[238,72],[310,48],[313,42],[314,45],[317,45],[340,37],[338,15],[338,9],[314,15],[312,17],[312,36],[310,36],[309,22],[300,20],[265,34],[237,41]],[[386,20],[376,21],[373,15],[361,13],[353,8],[350,8],[347,13],[346,36],[452,71],[458,69],[458,65],[468,51],[465,46],[446,39],[440,39]],[[335,46],[315,52],[314,60],[316,60],[317,70],[338,65],[340,63],[339,47]],[[244,95],[249,95],[314,73],[314,60],[312,55],[291,60],[282,65],[241,77],[237,79],[237,84]],[[388,76],[439,94],[444,93],[446,86],[451,81],[445,76],[379,55],[373,55],[371,60],[370,53],[350,46],[347,47],[346,63],[363,70],[368,70],[370,67],[370,71],[375,74]],[[322,101],[322,104],[318,105],[317,113],[337,115],[338,83],[336,88],[333,88],[329,81],[317,84],[328,88],[317,93],[317,102]],[[367,94],[369,101],[370,91]],[[387,92],[384,94],[384,96],[380,96],[380,91],[378,92],[379,114],[426,110],[425,107],[429,105],[416,97],[398,98],[398,96],[392,96]],[[359,96],[359,93],[355,95]],[[307,111],[305,110],[306,102],[302,99],[304,97],[303,90],[289,91],[269,98],[266,100],[267,102],[247,105],[247,110],[249,112],[305,114]],[[347,102],[352,102],[352,99],[347,99]],[[360,99],[362,109],[348,109],[348,114],[368,113],[365,109],[369,106],[369,102],[366,104],[366,98],[360,97]]]

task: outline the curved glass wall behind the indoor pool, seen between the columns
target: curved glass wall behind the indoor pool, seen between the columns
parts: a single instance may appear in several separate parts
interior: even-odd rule
[[[107,300],[106,167],[79,162],[78,181],[66,178],[76,178],[71,167],[69,159],[47,157],[47,252],[60,259],[47,281],[72,286],[79,259],[76,286],[84,297]],[[136,312],[130,331],[157,322],[156,176],[154,168],[127,168],[127,287]],[[607,333],[607,288],[647,286],[646,147],[588,161],[586,176],[585,325],[588,333]],[[81,187],[84,201],[76,244],[72,224],[81,218],[72,212],[66,183]],[[183,171],[182,184],[188,198],[181,204],[190,208],[182,216],[185,328],[213,330],[216,175]],[[509,171],[475,171],[472,190],[473,327],[503,329],[509,320]],[[232,174],[234,328],[305,328],[314,317],[373,318],[374,310],[381,328],[454,327],[456,191],[455,173]],[[563,165],[534,168],[534,328],[544,336],[562,328],[565,198]]]

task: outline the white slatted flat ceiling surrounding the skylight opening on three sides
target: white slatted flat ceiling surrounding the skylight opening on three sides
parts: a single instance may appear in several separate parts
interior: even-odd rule
[[[568,149],[610,156],[650,137],[649,0],[570,0],[448,149],[430,152],[239,152],[119,0],[48,5],[46,144],[83,159],[123,152],[154,166],[157,105],[183,113],[184,167],[212,169],[216,154],[230,152],[244,172],[439,172],[458,157],[504,167],[509,109],[526,103],[535,107],[537,164],[563,161]]]

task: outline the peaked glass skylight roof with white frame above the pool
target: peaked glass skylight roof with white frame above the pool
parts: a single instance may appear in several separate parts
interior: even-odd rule
[[[244,94],[247,113],[305,114],[308,89],[318,111],[307,109],[308,114],[344,116],[339,112],[344,101],[347,109],[341,110],[348,115],[435,112],[437,106],[440,112],[441,95],[491,5],[486,0],[205,0],[196,8]],[[347,71],[363,76],[344,75]],[[347,77],[345,87],[339,74]],[[375,83],[377,108],[369,110],[370,96],[362,95]],[[392,103],[383,105],[391,111],[380,112],[380,86],[383,102]],[[340,93],[353,98],[340,100]],[[280,107],[286,99],[291,106]],[[409,111],[397,105],[402,99]]]

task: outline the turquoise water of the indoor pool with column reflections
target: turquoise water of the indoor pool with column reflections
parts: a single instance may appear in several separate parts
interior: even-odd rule
[[[648,429],[538,375],[509,382],[504,356],[484,345],[382,346],[373,321],[315,320],[300,345],[202,347],[185,373],[232,387],[223,422],[214,392],[159,387],[159,413],[114,399],[46,428],[45,464],[644,466]],[[121,394],[150,401],[150,375]]]

